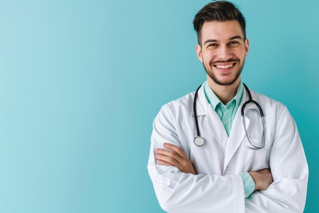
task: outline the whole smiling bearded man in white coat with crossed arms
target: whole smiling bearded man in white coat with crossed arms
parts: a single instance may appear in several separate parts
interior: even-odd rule
[[[148,171],[167,212],[303,212],[308,165],[280,102],[243,84],[243,14],[226,1],[194,18],[207,81],[154,119]]]

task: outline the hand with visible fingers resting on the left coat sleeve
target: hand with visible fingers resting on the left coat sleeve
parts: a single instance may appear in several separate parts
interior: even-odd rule
[[[156,149],[155,158],[157,159],[157,164],[174,166],[177,167],[181,172],[196,175],[195,169],[190,159],[180,147],[169,143],[164,143],[163,147],[170,150],[159,148]]]

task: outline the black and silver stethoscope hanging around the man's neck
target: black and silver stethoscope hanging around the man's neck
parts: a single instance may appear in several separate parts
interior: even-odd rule
[[[202,86],[202,85],[201,85]],[[197,101],[197,96],[198,96],[198,90],[199,88],[201,87],[199,86],[195,92],[195,96],[194,96],[194,107],[193,107],[193,110],[194,110],[194,118],[195,118],[195,125],[196,125],[196,134],[197,134],[197,137],[194,139],[194,143],[195,145],[197,146],[203,146],[205,144],[205,140],[199,135],[199,128],[198,128],[198,120],[197,120],[197,113],[196,113],[196,101]],[[243,104],[243,107],[242,107],[242,118],[243,118],[243,124],[244,124],[244,129],[245,129],[245,135],[246,135],[246,138],[249,142],[249,145],[250,146],[246,146],[247,149],[254,149],[254,150],[257,150],[257,149],[269,149],[269,146],[265,145],[266,144],[266,140],[265,140],[265,127],[264,127],[264,118],[263,118],[263,113],[262,113],[262,110],[261,110],[261,107],[260,105],[254,101],[251,97],[251,94],[250,94],[250,91],[248,89],[248,87],[244,84],[244,87],[248,93],[248,96],[249,96],[249,100],[246,101],[244,104]],[[248,133],[247,133],[247,130],[246,130],[246,124],[245,124],[245,117],[246,117],[246,114],[244,113],[244,110],[245,110],[245,107],[248,103],[253,103],[257,106],[258,108],[258,111],[257,109],[251,109],[251,110],[255,110],[256,112],[258,112],[260,118],[261,118],[261,121],[262,121],[262,138],[261,138],[261,146],[256,146],[254,145],[250,139],[249,139],[249,136],[248,136]]]

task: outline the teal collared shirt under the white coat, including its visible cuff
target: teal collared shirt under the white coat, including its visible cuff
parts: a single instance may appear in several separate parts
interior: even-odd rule
[[[227,135],[229,136],[232,122],[243,98],[243,83],[241,82],[239,84],[235,97],[233,97],[231,101],[226,103],[226,105],[223,104],[220,101],[220,99],[216,96],[216,94],[210,89],[207,82],[204,83],[204,92],[208,103],[220,117],[226,129]],[[248,198],[255,190],[255,182],[248,172],[241,172],[240,175],[242,176],[244,182],[245,198]]]

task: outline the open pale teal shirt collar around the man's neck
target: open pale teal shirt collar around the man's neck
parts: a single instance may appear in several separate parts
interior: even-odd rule
[[[223,104],[220,99],[215,95],[215,93],[210,89],[207,81],[204,82],[204,92],[205,92],[205,96],[207,98],[207,101],[208,103],[211,104],[211,107],[215,110],[217,105],[219,103]],[[235,97],[233,97],[231,99],[231,101],[235,101],[235,104],[236,104],[236,107],[238,108],[240,103],[241,103],[241,100],[242,100],[242,97],[243,97],[243,92],[244,92],[244,85],[243,83],[241,82],[237,88],[237,93],[235,95]],[[228,103],[230,103],[231,101],[229,101]]]

